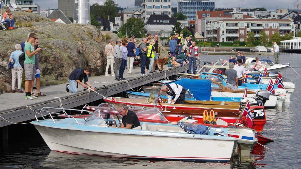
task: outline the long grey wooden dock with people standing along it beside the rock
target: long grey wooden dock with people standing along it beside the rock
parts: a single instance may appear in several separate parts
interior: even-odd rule
[[[96,91],[101,95],[111,96],[122,91],[130,90],[132,88],[143,86],[147,83],[155,82],[156,80],[161,80],[166,77],[184,72],[187,70],[188,66],[182,67],[167,67],[164,65],[163,71],[157,71],[153,74],[147,74],[147,76],[142,76],[140,72],[140,67],[135,67],[133,69],[133,74],[127,74],[125,70],[124,78],[128,81],[115,81],[114,76],[95,76],[89,77],[89,82],[92,86],[97,86]],[[148,72],[147,72],[148,73]],[[105,87],[104,87],[104,86]],[[129,86],[130,85],[130,86]],[[107,88],[107,89],[105,89]],[[35,91],[35,90],[34,90]],[[0,95],[0,116],[8,121],[14,123],[20,123],[26,120],[34,119],[34,113],[25,105],[29,106],[33,110],[41,109],[42,107],[60,107],[60,103],[55,97],[60,97],[62,105],[64,108],[74,108],[79,105],[84,105],[103,97],[98,95],[96,92],[83,91],[83,87],[79,85],[78,93],[66,92],[66,84],[43,86],[41,91],[46,94],[46,96],[40,96],[37,99],[25,100],[25,93],[4,93]],[[0,127],[8,126],[11,123],[5,121],[0,117]]]

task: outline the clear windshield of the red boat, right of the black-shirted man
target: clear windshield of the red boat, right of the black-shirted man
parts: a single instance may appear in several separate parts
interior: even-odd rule
[[[137,114],[140,122],[169,123],[158,108],[149,108],[135,113]]]

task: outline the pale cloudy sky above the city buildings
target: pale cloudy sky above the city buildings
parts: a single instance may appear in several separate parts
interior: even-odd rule
[[[41,10],[47,9],[48,7],[57,8],[57,0],[33,0],[34,3],[41,6]],[[118,6],[121,7],[132,7],[134,6],[135,0],[115,0]],[[90,0],[90,4],[98,3],[103,5],[105,0]],[[177,0],[172,0],[172,6],[177,6]],[[210,2],[215,2],[216,8],[256,8],[264,7],[269,11],[276,11],[279,8],[289,8],[294,9],[294,3],[296,0],[210,0]],[[301,3],[301,2],[300,2]]]

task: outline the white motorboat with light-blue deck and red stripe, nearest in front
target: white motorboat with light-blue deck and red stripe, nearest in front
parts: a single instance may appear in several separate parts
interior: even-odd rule
[[[111,114],[107,109],[114,109],[115,113]],[[119,126],[121,117],[112,105],[106,103],[99,105],[87,120],[50,111],[43,112],[47,112],[51,119],[45,119],[42,115],[44,120],[38,120],[36,116],[36,121],[31,124],[39,131],[48,147],[57,152],[122,158],[228,162],[237,142],[233,137],[187,133],[172,124],[143,122],[141,127],[134,129],[109,127],[112,124]],[[71,118],[53,119],[51,114]],[[187,145],[193,147],[193,150],[181,151]]]

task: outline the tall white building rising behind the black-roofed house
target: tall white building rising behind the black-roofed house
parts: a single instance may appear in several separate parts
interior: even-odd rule
[[[141,4],[142,19],[146,23],[151,15],[168,15],[171,17],[171,0],[143,0]]]

